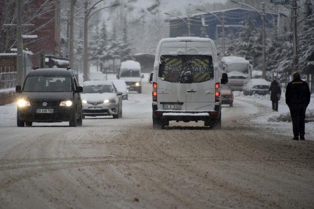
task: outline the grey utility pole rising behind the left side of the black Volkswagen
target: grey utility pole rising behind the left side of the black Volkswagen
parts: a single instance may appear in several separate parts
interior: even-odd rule
[[[17,0],[17,56],[16,56],[16,70],[17,70],[17,85],[22,86],[24,81],[23,70],[23,39],[22,39],[22,0]]]

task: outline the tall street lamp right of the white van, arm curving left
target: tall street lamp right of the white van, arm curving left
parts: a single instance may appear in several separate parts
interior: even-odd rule
[[[265,41],[266,41],[266,32],[265,32],[265,2],[262,2],[262,13],[257,10],[256,8],[254,8],[253,6],[246,4],[246,3],[242,3],[242,2],[237,2],[235,0],[230,0],[233,3],[237,3],[237,4],[241,4],[244,6],[247,6],[251,9],[253,9],[254,11],[256,11],[257,13],[259,13],[261,15],[262,18],[262,78],[266,78],[266,46],[265,46]]]

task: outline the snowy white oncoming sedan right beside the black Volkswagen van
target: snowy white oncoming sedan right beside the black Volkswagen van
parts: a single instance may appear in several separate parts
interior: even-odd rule
[[[83,83],[82,106],[85,116],[122,117],[122,93],[111,81],[85,81]]]

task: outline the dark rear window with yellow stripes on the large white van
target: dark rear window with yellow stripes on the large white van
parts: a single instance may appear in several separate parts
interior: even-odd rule
[[[201,83],[214,77],[212,57],[208,55],[162,55],[158,77],[172,83]],[[189,77],[185,81],[182,77]]]

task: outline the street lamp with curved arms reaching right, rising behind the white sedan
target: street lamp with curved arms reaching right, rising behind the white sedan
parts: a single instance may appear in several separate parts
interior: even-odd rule
[[[90,18],[96,13],[99,12],[105,8],[110,8],[110,7],[114,7],[114,6],[118,6],[120,5],[119,3],[113,4],[111,6],[105,6],[103,8],[100,8],[98,10],[96,10],[94,13],[92,13],[90,15],[90,12],[92,11],[92,9],[95,9],[95,6],[102,2],[104,0],[99,0],[97,1],[95,4],[93,4],[93,6],[91,6],[88,9],[88,1],[85,0],[84,1],[84,44],[83,44],[83,74],[84,74],[84,81],[88,81],[88,73],[89,73],[89,68],[88,68],[88,21],[90,20]]]

